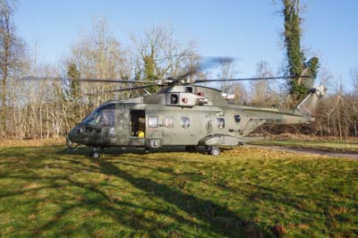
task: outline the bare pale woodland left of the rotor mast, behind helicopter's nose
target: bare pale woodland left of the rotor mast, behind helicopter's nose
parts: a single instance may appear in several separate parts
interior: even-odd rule
[[[100,104],[143,93],[105,93],[133,85],[76,79],[154,81],[179,75],[200,60],[194,42],[175,36],[169,27],[145,30],[140,36],[132,36],[132,44],[124,47],[108,29],[107,21],[97,19],[90,31],[75,40],[69,54],[55,65],[42,64],[36,48],[30,53],[16,34],[13,3],[0,0],[3,139],[65,135]]]

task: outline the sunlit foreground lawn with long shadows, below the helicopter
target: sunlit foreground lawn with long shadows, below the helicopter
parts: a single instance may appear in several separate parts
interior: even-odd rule
[[[0,149],[0,236],[354,237],[358,161],[236,148]]]

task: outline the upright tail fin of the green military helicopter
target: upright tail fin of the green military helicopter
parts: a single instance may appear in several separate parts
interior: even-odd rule
[[[294,109],[294,113],[311,118],[316,111],[317,102],[326,93],[327,89],[320,85],[310,90],[310,94]]]

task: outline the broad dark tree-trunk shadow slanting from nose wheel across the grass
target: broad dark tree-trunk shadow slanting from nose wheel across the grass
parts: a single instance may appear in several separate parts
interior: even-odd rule
[[[100,161],[99,165],[102,173],[115,175],[142,191],[154,193],[158,198],[209,224],[209,229],[216,234],[229,237],[271,236],[259,225],[244,220],[230,209],[213,201],[199,199],[165,184],[156,183],[149,178],[135,177],[104,160]]]

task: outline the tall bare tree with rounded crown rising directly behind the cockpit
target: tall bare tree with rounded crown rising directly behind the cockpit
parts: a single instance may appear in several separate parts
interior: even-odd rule
[[[71,54],[65,59],[64,71],[67,72],[69,65],[75,65],[81,78],[87,79],[128,79],[132,74],[128,52],[121,47],[121,43],[114,37],[108,28],[107,21],[103,18],[96,19],[92,30],[82,34],[72,45]],[[114,93],[103,94],[101,92],[122,86],[120,84],[81,83],[82,103],[90,106],[85,111],[89,113],[93,107],[104,101],[121,98]],[[85,93],[98,93],[98,96],[88,97]]]

